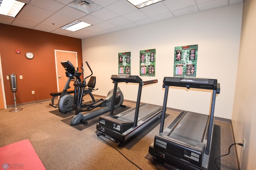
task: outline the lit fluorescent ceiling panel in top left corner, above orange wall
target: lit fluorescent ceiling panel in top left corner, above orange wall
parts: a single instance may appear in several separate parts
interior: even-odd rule
[[[16,17],[26,4],[16,0],[0,0],[0,14]]]

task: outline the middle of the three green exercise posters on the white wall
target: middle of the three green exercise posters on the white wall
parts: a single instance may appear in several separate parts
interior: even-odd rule
[[[156,49],[140,51],[140,76],[156,75]]]

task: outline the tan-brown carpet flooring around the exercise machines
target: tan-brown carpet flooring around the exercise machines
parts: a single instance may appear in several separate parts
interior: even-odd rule
[[[130,102],[124,102],[124,105],[135,106]],[[123,146],[117,147],[113,141],[98,137],[95,133],[96,125],[82,131],[67,125],[61,121],[62,117],[50,113],[56,108],[49,106],[49,101],[18,107],[23,110],[0,110],[0,147],[28,139],[46,170],[157,169],[145,156],[154,136],[159,133],[159,124],[131,149],[126,149]],[[164,128],[179,114],[171,110],[166,113],[169,116],[165,119]],[[220,127],[220,154],[226,154],[228,147],[234,143],[231,124],[216,120],[214,124]],[[220,164],[221,170],[237,170],[234,148],[228,156],[221,158]],[[161,166],[158,168],[166,169]]]

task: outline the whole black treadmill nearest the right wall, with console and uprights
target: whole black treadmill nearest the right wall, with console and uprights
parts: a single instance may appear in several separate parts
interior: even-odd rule
[[[164,77],[164,104],[159,134],[149,147],[156,160],[179,170],[208,170],[214,125],[214,106],[220,84],[216,79]],[[170,86],[213,90],[210,115],[181,111],[164,129],[164,115]]]

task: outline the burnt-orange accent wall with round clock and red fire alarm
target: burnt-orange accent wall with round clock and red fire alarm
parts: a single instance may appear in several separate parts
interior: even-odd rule
[[[35,101],[32,90],[36,100],[50,99],[50,93],[57,92],[55,49],[76,51],[78,66],[82,66],[81,39],[0,23],[0,54],[7,106],[14,104],[10,82],[6,78],[12,73],[17,75],[17,104]],[[34,53],[34,58],[27,59],[26,52]],[[19,78],[20,75],[23,79]]]

